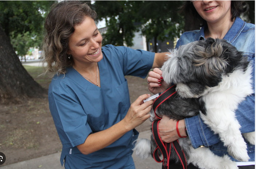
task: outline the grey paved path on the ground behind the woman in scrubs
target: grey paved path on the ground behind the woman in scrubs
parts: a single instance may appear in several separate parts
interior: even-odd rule
[[[150,138],[150,130],[141,132],[139,138]],[[152,157],[148,157],[145,160],[140,159],[133,153],[133,160],[135,162],[136,169],[160,169],[161,163],[154,161]],[[15,164],[1,167],[1,169],[64,169],[60,165],[60,153],[50,154],[27,161],[18,162]]]

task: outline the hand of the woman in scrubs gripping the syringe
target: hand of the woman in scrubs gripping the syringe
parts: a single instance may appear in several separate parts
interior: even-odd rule
[[[150,94],[143,94],[131,104],[125,118],[123,119],[127,130],[134,129],[150,117],[149,112],[154,101],[150,100],[144,103],[143,100],[148,97],[150,97]]]

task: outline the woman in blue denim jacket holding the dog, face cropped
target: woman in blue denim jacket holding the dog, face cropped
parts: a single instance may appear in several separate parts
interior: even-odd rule
[[[183,10],[199,19],[202,28],[196,31],[184,32],[177,42],[176,48],[192,41],[204,40],[208,37],[214,39],[225,39],[234,45],[239,51],[244,52],[253,65],[253,89],[255,90],[255,25],[245,23],[240,19],[240,14],[247,10],[247,5],[242,1],[186,1]],[[163,92],[166,88],[162,79],[162,71],[155,68],[149,72],[149,90],[152,93]],[[162,84],[159,86],[159,84]],[[241,125],[241,132],[255,131],[255,94],[248,96],[236,110],[236,117]],[[177,121],[163,117],[159,122],[159,133],[163,141],[173,142],[179,138],[176,132]],[[185,129],[186,128],[186,129]],[[187,136],[193,147],[209,147],[212,152],[219,156],[227,154],[226,148],[207,126],[202,122],[200,116],[185,118],[178,123],[181,136]],[[241,169],[255,168],[255,145],[247,144],[249,162],[237,162]],[[232,158],[235,161],[235,159]],[[211,161],[214,162],[214,161]],[[175,168],[175,167],[174,167]]]

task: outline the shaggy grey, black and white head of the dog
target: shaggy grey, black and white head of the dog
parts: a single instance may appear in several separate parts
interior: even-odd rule
[[[223,76],[247,67],[247,58],[233,45],[209,38],[170,51],[162,76],[166,83],[177,84],[176,90],[182,97],[198,98],[207,93],[206,89],[217,86]]]

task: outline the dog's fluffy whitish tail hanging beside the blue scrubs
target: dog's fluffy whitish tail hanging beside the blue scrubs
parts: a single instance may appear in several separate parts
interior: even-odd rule
[[[136,143],[133,150],[136,152],[136,155],[142,159],[147,158],[150,155],[150,140],[138,138],[134,142]]]

